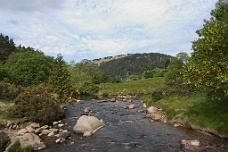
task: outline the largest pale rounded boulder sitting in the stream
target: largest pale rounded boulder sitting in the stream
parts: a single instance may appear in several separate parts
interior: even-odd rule
[[[85,133],[87,131],[95,133],[98,129],[102,128],[104,123],[94,116],[81,116],[75,124],[73,130],[75,133]]]

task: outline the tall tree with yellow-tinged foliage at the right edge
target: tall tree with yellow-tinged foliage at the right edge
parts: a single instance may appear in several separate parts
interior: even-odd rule
[[[188,84],[204,88],[214,99],[228,94],[228,1],[219,0],[212,18],[197,30],[188,64]]]

